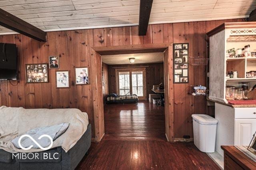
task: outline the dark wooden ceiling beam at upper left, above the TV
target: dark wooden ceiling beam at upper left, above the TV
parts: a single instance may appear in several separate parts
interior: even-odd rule
[[[38,41],[46,41],[46,32],[0,9],[0,25]]]

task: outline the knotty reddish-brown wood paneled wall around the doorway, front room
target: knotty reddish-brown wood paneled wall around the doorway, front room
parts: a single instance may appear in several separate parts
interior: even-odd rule
[[[197,21],[186,23],[167,23],[148,25],[146,36],[138,36],[138,26],[114,27],[105,29],[87,29],[48,32],[45,43],[39,43],[24,35],[1,35],[1,43],[16,43],[18,47],[18,65],[20,82],[12,86],[9,81],[0,81],[0,105],[26,108],[78,108],[88,113],[92,123],[92,135],[100,138],[104,132],[96,131],[94,114],[102,106],[101,100],[96,100],[95,92],[100,93],[96,84],[102,86],[100,77],[94,78],[101,65],[96,54],[90,47],[152,44],[152,43],[189,43],[189,56],[206,57],[206,32],[224,22],[244,21],[242,19]],[[48,56],[60,57],[59,70],[70,70],[71,87],[56,89],[55,70],[49,70],[50,82],[39,84],[26,84],[24,64],[48,63]],[[84,86],[74,85],[74,66],[89,66],[90,81],[92,84]],[[171,70],[169,70],[171,71]],[[193,136],[193,113],[206,113],[206,98],[194,97],[188,94],[190,85],[206,85],[206,66],[193,67],[189,70],[190,82],[188,84],[175,84],[174,86],[174,137],[183,135]],[[93,79],[93,80],[92,80]],[[95,80],[94,80],[95,79]],[[16,81],[11,81],[15,84]],[[97,103],[96,103],[97,102]],[[96,106],[96,107],[94,107]],[[98,112],[97,112],[98,113]],[[96,117],[102,119],[102,115]],[[96,134],[96,135],[95,135]]]

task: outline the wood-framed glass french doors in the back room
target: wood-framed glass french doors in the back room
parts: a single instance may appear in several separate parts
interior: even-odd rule
[[[117,68],[116,79],[119,95],[136,94],[146,100],[146,68]]]

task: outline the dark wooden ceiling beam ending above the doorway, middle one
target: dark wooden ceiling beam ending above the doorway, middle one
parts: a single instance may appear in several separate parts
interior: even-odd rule
[[[139,35],[146,35],[153,0],[140,0]]]

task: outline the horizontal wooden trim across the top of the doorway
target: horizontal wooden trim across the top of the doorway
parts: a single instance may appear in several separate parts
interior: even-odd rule
[[[92,47],[100,55],[164,52],[171,43]]]

